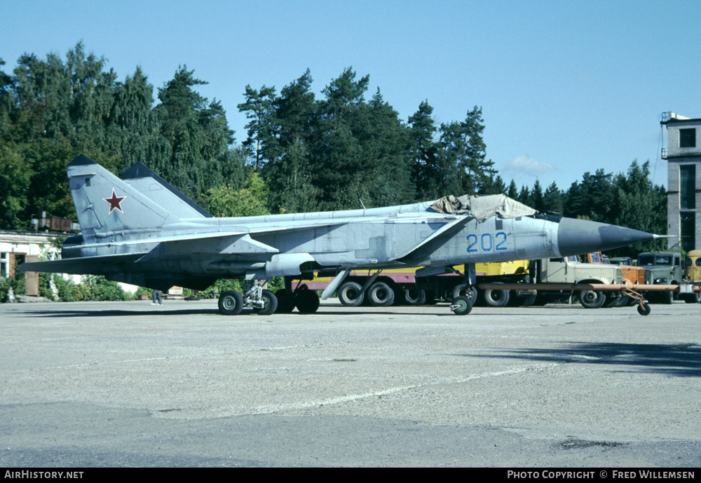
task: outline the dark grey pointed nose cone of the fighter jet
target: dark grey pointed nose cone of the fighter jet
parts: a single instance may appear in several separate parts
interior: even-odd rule
[[[585,219],[562,218],[557,228],[557,245],[563,257],[604,252],[655,238],[658,236],[645,231]]]

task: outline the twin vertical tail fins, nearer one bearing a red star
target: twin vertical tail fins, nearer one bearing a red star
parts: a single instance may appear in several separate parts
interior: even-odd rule
[[[182,218],[211,216],[146,166],[135,167],[119,179],[84,154],[69,163],[69,186],[84,240],[128,239],[132,233],[156,233]]]

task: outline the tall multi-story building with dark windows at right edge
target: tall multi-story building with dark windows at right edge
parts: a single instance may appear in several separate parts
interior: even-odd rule
[[[662,114],[667,126],[667,233],[669,247],[679,243],[686,252],[701,247],[701,119]]]

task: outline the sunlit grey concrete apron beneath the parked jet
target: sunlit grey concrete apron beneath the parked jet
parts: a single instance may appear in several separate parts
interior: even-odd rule
[[[701,305],[0,305],[0,466],[701,466]]]

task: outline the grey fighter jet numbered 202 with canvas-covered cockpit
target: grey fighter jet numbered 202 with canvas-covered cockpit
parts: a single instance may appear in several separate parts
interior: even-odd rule
[[[219,311],[312,313],[319,297],[292,291],[292,280],[337,275],[322,299],[358,268],[421,268],[417,276],[465,265],[567,257],[658,238],[608,224],[543,215],[504,195],[449,196],[437,201],[362,210],[216,218],[139,163],[123,179],[84,155],[68,165],[81,234],[68,238],[62,259],[23,264],[22,271],[104,275],[109,280],[168,290],[203,290],[219,278],[245,278],[243,296],[220,294]],[[264,282],[285,277],[273,294]],[[362,290],[366,290],[372,279]],[[469,313],[458,297],[451,309]]]

